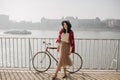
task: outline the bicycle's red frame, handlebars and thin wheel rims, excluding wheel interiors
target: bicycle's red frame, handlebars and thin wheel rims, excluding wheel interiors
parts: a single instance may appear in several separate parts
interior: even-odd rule
[[[45,72],[47,71],[49,68],[50,68],[50,65],[51,65],[51,57],[56,61],[56,63],[58,63],[58,60],[51,54],[51,52],[48,50],[48,49],[56,49],[57,50],[57,47],[49,47],[49,45],[51,45],[50,43],[46,43],[46,42],[43,42],[45,44],[45,51],[40,51],[40,52],[37,52],[33,59],[32,59],[32,64],[33,64],[33,68],[36,70],[36,71],[39,71],[39,72]],[[43,54],[46,54],[48,56],[48,58],[50,59],[50,64],[48,64],[47,67],[45,67],[44,70],[39,70],[38,67],[39,66],[35,66],[34,65],[34,59],[35,59],[35,56],[37,56],[39,53],[43,53]],[[67,68],[68,72],[69,73],[75,73],[77,71],[79,71],[81,68],[82,68],[82,64],[83,64],[83,60],[82,60],[82,57],[78,54],[78,53],[73,53],[73,56],[76,56],[77,57],[77,60],[79,60],[80,62],[80,65],[77,65],[78,67],[76,67],[75,69],[73,69],[73,67],[69,67]],[[72,56],[71,56],[72,57]],[[45,58],[45,57],[43,57]],[[43,59],[41,59],[43,60]],[[41,62],[41,61],[40,61]],[[57,65],[57,64],[56,64]],[[74,65],[73,65],[74,66]],[[40,67],[41,69],[41,67]]]

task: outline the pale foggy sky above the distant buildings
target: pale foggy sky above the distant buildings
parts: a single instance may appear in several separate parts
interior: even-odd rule
[[[120,0],[0,0],[0,14],[15,21],[40,21],[66,16],[120,19]]]

